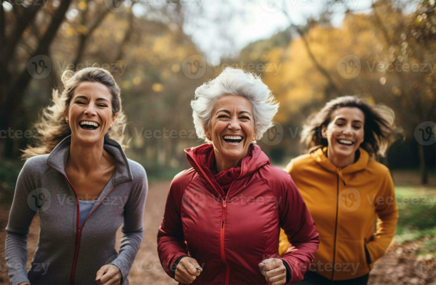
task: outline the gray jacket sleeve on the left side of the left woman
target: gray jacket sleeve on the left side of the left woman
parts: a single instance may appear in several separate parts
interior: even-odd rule
[[[33,170],[33,159],[24,164],[18,175],[15,186],[14,200],[9,212],[9,220],[6,226],[5,255],[6,265],[9,269],[9,281],[12,285],[21,282],[29,282],[27,278],[27,235],[29,227],[37,210],[29,197],[32,191],[37,191],[37,185],[32,178],[37,177]],[[28,199],[29,198],[29,199]],[[28,204],[28,201],[30,204]]]

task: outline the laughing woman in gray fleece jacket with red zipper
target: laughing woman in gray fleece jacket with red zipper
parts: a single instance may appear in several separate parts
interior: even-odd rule
[[[36,124],[36,147],[24,150],[6,227],[12,284],[128,284],[143,238],[144,168],[118,141],[125,117],[120,89],[101,68],[62,75],[65,89]],[[29,272],[27,234],[40,217]],[[119,253],[116,231],[123,225]]]

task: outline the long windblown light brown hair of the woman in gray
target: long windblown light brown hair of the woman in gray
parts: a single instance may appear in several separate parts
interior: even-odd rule
[[[117,141],[123,148],[126,116],[121,111],[121,90],[109,71],[98,67],[87,67],[74,72],[65,70],[61,76],[64,85],[63,91],[53,89],[51,103],[44,108],[39,120],[34,124],[37,130],[35,146],[27,145],[21,150],[21,159],[28,159],[38,154],[50,153],[60,141],[71,134],[71,129],[65,121],[64,111],[68,109],[72,95],[78,84],[85,81],[99,82],[106,85],[112,94],[112,116],[118,113],[108,135]]]

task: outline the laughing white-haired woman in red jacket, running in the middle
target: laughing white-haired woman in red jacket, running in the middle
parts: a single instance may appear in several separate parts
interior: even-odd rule
[[[170,185],[157,241],[160,261],[183,284],[299,282],[318,249],[312,217],[286,172],[255,144],[278,105],[254,74],[226,68],[195,91],[192,168]],[[280,227],[293,245],[278,255]],[[295,247],[295,248],[294,248]]]

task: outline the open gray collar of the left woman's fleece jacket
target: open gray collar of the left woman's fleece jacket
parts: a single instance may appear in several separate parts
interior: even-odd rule
[[[48,155],[47,165],[54,170],[65,174],[65,165],[70,154],[71,134],[65,137]],[[106,134],[104,137],[103,148],[115,157],[116,170],[113,175],[114,184],[133,181],[132,172],[130,171],[129,161],[123,148]]]

